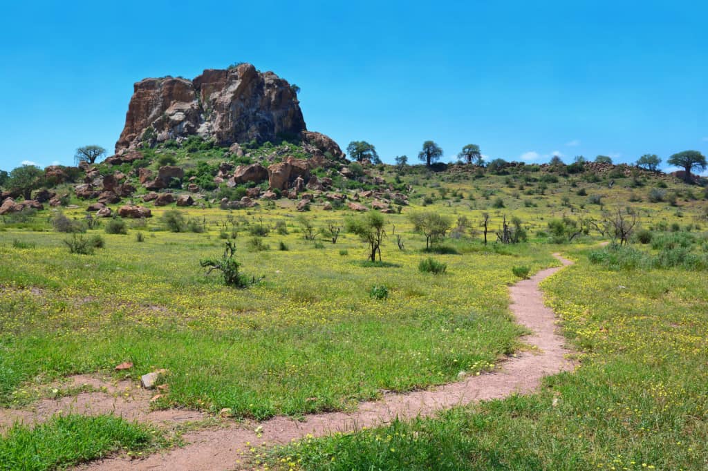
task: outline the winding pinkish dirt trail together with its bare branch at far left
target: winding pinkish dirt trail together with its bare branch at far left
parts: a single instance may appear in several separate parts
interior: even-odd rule
[[[571,264],[554,254],[566,266]],[[188,442],[183,448],[149,455],[142,460],[127,457],[107,458],[81,467],[82,470],[235,470],[247,465],[251,447],[273,446],[290,443],[307,435],[324,436],[333,432],[360,429],[362,426],[384,425],[395,419],[428,417],[441,409],[464,405],[479,400],[506,397],[513,393],[535,390],[544,376],[571,371],[573,364],[565,358],[568,350],[564,339],[556,333],[554,313],[544,306],[539,282],[558,272],[561,267],[544,269],[527,280],[510,286],[510,309],[516,320],[532,331],[524,337],[531,347],[503,361],[502,368],[494,373],[469,376],[456,383],[430,390],[404,394],[390,393],[382,400],[362,402],[356,412],[331,412],[312,414],[302,421],[289,417],[273,417],[261,423],[227,422],[219,429],[204,429],[185,434]],[[76,377],[81,384],[91,380]],[[98,385],[97,385],[98,386]],[[130,383],[113,385],[108,393],[82,393],[61,400],[42,400],[30,411],[0,411],[0,426],[13,418],[42,420],[59,410],[98,414],[115,411],[126,419],[153,423],[174,424],[193,421],[205,415],[193,411],[168,410],[149,412],[149,392],[132,390]],[[127,394],[126,394],[127,392]],[[96,396],[98,394],[98,396]],[[17,417],[8,413],[14,412]],[[258,427],[258,434],[256,434]]]

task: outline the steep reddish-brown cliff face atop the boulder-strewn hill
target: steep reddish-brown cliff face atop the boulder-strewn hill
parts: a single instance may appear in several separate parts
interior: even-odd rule
[[[290,83],[241,64],[205,70],[193,81],[167,77],[135,83],[115,151],[192,134],[213,138],[221,146],[275,141],[279,134],[306,129]]]

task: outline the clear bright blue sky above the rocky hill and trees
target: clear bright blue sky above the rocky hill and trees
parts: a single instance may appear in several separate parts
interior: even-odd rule
[[[13,2],[0,18],[0,168],[113,150],[132,84],[251,62],[308,129],[416,160],[631,162],[708,153],[699,1]]]

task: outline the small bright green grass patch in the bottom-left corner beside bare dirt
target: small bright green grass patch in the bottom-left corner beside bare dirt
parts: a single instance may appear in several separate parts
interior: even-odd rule
[[[15,424],[0,436],[0,470],[55,470],[118,450],[137,452],[154,436],[154,430],[110,415],[55,416],[34,428]]]

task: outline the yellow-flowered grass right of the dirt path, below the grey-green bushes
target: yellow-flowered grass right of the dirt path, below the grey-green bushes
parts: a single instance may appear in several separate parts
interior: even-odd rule
[[[704,470],[708,284],[681,269],[579,262],[544,281],[582,366],[537,394],[310,439],[278,459],[316,470]],[[271,458],[275,460],[275,458]]]

